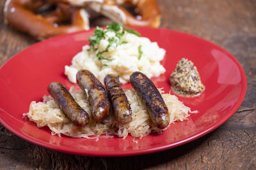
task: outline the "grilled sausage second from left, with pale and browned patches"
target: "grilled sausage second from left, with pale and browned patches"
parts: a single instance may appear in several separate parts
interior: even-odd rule
[[[89,99],[92,107],[92,118],[95,121],[102,121],[109,116],[108,95],[100,81],[88,70],[80,70],[76,74],[79,87]]]

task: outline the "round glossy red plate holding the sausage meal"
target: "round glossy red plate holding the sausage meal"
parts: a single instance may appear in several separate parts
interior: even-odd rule
[[[142,139],[95,139],[52,136],[47,127],[22,117],[29,111],[31,101],[42,101],[48,95],[47,85],[60,81],[72,85],[64,75],[64,66],[88,44],[93,30],[65,34],[36,43],[13,56],[0,68],[0,122],[22,139],[60,152],[92,156],[127,156],[158,152],[193,141],[230,118],[243,101],[246,76],[237,60],[227,51],[204,39],[168,29],[135,27],[141,36],[157,41],[166,49],[163,60],[166,73],[152,78],[157,87],[170,90],[168,77],[177,62],[186,57],[197,67],[206,89],[198,97],[179,97],[191,110],[198,110],[188,120],[172,124],[161,135]],[[130,87],[125,85],[124,87]]]

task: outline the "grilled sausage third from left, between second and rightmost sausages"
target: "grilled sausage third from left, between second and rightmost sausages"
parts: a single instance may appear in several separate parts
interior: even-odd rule
[[[119,77],[107,74],[104,78],[104,83],[116,120],[122,124],[132,122],[131,106],[120,85]]]

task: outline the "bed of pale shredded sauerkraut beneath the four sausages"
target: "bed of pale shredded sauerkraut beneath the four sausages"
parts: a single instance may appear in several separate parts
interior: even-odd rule
[[[152,124],[147,108],[136,92],[134,90],[124,91],[132,109],[132,122],[125,125],[120,124],[111,113],[103,122],[95,122],[91,118],[90,123],[86,127],[79,128],[65,117],[51,96],[44,96],[42,102],[36,103],[32,101],[29,106],[29,112],[23,115],[35,122],[38,127],[49,127],[52,135],[58,134],[58,136],[61,136],[61,134],[65,134],[72,138],[99,139],[99,137],[113,138],[114,135],[126,138],[128,134],[131,134],[134,138],[143,138],[143,136],[147,136],[150,132],[161,133],[168,128],[158,129]],[[164,94],[161,89],[159,91],[168,107],[170,124],[174,121],[186,120],[189,117],[189,112],[191,113],[190,108],[184,106],[176,96]],[[90,105],[83,91],[71,87],[70,93],[76,102],[90,115]]]

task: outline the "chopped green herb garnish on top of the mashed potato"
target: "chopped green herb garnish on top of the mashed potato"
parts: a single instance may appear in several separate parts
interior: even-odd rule
[[[93,32],[93,35],[88,38],[88,41],[90,42],[89,44],[90,48],[88,49],[88,51],[90,50],[93,50],[94,52],[97,51],[98,50],[97,45],[99,45],[100,39],[106,38],[106,32],[115,32],[115,35],[116,35],[115,37],[108,38],[109,44],[108,46],[106,46],[106,49],[101,52],[100,51],[97,52],[97,55],[96,55],[99,60],[109,60],[109,61],[114,60],[114,59],[108,59],[108,58],[102,57],[102,53],[108,52],[111,46],[117,47],[118,45],[127,43],[127,41],[122,41],[122,36],[124,36],[125,31],[131,34],[135,34],[136,36],[140,36],[140,33],[138,33],[137,31],[134,31],[134,29],[126,29],[124,25],[118,24],[117,22],[112,22],[111,24],[109,24],[105,31],[100,27],[96,27],[95,31]],[[139,46],[139,49],[140,49],[140,46]],[[139,50],[139,53],[140,53],[140,50]]]

